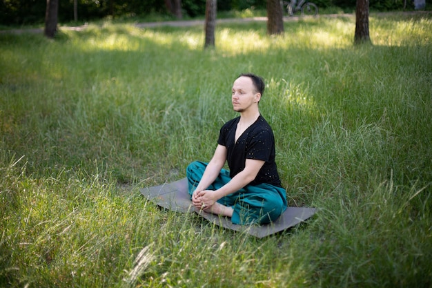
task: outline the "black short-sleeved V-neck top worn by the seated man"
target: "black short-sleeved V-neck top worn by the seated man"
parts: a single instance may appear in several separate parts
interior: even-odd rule
[[[243,171],[246,159],[265,161],[257,177],[250,184],[268,183],[281,186],[275,162],[275,137],[270,125],[259,115],[257,121],[249,126],[236,143],[235,130],[240,117],[232,119],[222,126],[217,144],[226,147],[230,177]]]

